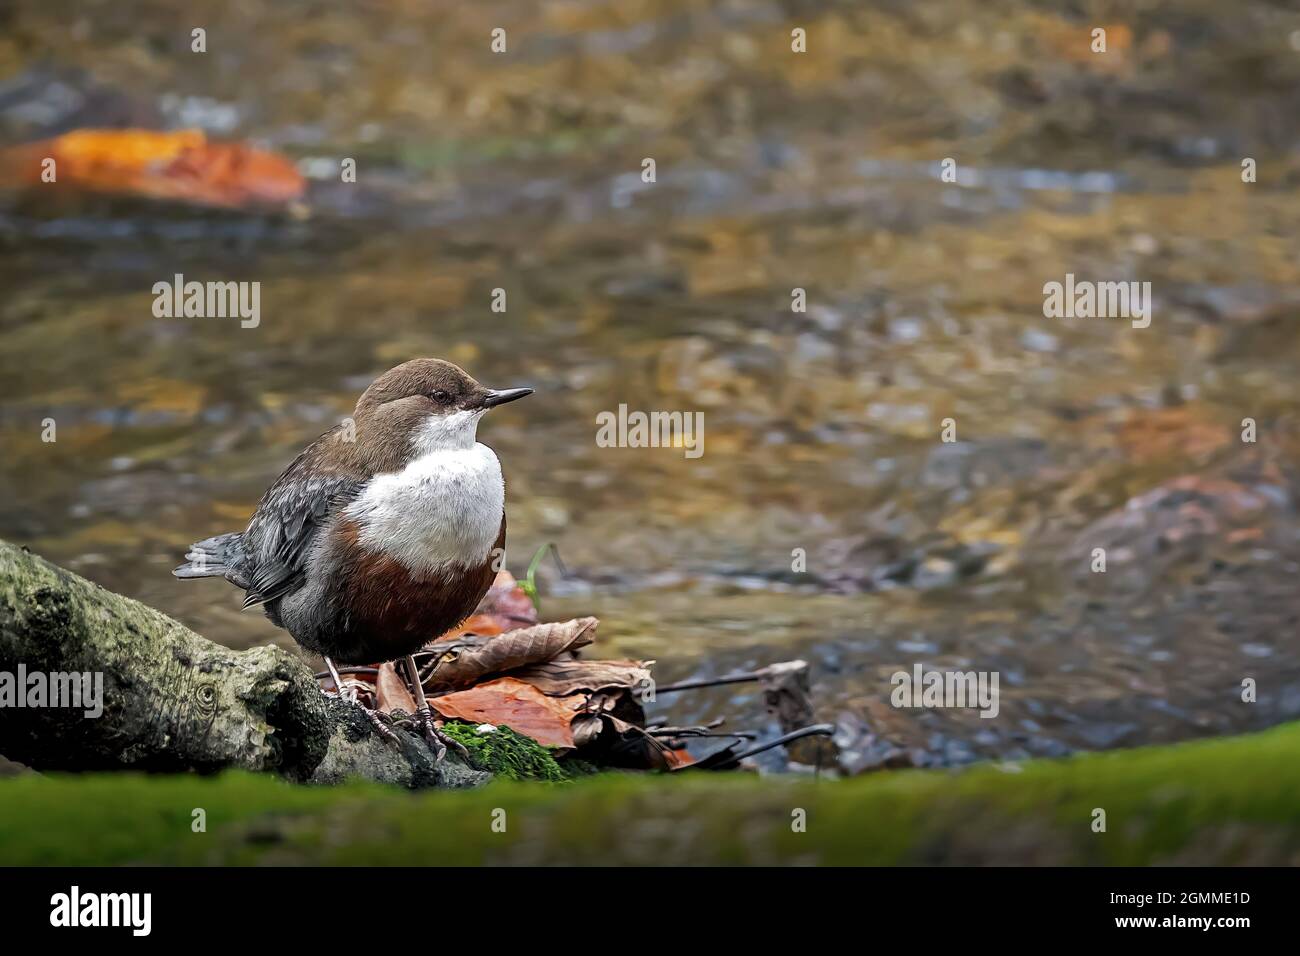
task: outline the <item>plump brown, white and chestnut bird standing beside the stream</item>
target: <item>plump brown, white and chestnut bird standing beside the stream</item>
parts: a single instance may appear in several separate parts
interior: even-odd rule
[[[425,736],[441,760],[463,748],[434,727],[411,657],[477,607],[506,546],[500,462],[478,419],[532,389],[489,389],[441,359],[389,369],[352,423],[307,446],[242,532],[195,542],[177,578],[225,578],[244,607],[341,663],[406,662]],[[352,438],[352,440],[350,440]],[[376,714],[376,727],[391,737]]]

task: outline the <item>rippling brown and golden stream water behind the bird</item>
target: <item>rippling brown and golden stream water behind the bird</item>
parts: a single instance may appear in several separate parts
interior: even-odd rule
[[[660,682],[807,659],[849,773],[1295,718],[1297,116],[1300,10],[1268,0],[12,0],[5,147],[202,129],[308,186],[0,193],[0,536],[289,645],[172,567],[437,355],[538,390],[480,438],[511,568],[568,568],[543,618]],[[1149,281],[1150,328],[1044,319],[1067,272]],[[259,328],[155,317],[174,273],[261,282]],[[703,411],[703,458],[597,447],[619,403]],[[892,709],[918,661],[998,671],[998,719]],[[658,709],[767,719],[744,685]]]

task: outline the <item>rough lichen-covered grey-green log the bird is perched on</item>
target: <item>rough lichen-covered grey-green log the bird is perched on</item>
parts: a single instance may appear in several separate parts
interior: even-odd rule
[[[221,646],[0,541],[0,675],[10,675],[10,689],[20,669],[103,682],[98,717],[84,706],[0,706],[0,754],[36,770],[243,769],[411,788],[490,778],[454,753],[436,762],[415,734],[398,730],[398,745],[385,741],[356,705],[325,697],[306,662],[281,648]]]

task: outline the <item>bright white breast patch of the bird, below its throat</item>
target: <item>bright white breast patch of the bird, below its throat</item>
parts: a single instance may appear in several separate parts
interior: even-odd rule
[[[486,445],[425,453],[399,472],[377,475],[346,510],[359,544],[412,571],[482,564],[500,533],[506,481]]]

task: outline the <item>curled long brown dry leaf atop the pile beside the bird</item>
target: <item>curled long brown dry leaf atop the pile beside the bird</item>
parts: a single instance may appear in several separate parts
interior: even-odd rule
[[[521,627],[494,637],[439,640],[426,648],[436,663],[425,685],[429,689],[468,687],[489,674],[550,661],[566,650],[590,644],[598,623],[595,618],[576,618]]]

